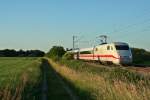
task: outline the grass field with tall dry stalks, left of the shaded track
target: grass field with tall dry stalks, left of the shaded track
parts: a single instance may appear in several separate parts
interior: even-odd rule
[[[41,61],[37,58],[0,58],[0,99],[32,100],[39,98]],[[36,90],[35,90],[36,88]]]

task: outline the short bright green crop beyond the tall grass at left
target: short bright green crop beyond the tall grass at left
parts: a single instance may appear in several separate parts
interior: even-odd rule
[[[28,69],[35,58],[0,58],[0,88],[5,87],[7,83],[15,82]],[[18,81],[19,82],[19,81]]]

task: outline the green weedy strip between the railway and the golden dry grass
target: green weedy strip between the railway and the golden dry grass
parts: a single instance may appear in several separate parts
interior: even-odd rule
[[[71,69],[80,72],[88,72],[92,74],[97,74],[103,76],[104,78],[109,79],[110,81],[113,79],[121,80],[124,82],[137,83],[138,81],[146,81],[150,80],[150,76],[144,76],[137,72],[132,72],[128,69],[122,67],[105,67],[105,66],[94,66],[83,61],[76,60],[61,60],[59,61],[61,65],[66,65]],[[148,83],[147,83],[148,84]],[[150,83],[149,83],[150,84]]]

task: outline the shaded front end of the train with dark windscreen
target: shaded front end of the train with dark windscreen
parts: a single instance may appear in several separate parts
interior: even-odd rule
[[[129,45],[127,43],[116,43],[115,47],[119,55],[119,63],[132,64],[132,53]]]

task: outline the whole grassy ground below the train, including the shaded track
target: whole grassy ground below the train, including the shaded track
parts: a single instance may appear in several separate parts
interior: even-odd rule
[[[44,97],[149,100],[150,75],[76,60],[56,63],[48,58],[0,58],[0,100],[45,100]]]

